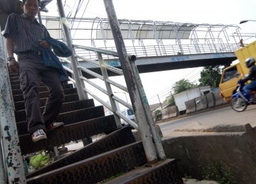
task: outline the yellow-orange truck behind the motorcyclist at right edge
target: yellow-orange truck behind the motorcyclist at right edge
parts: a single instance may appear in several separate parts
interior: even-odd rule
[[[231,100],[231,96],[238,86],[238,80],[249,73],[249,69],[245,66],[245,59],[248,57],[255,57],[256,59],[256,41],[236,50],[235,56],[238,58],[238,62],[234,62],[230,67],[223,69],[220,79],[220,95],[225,101]]]

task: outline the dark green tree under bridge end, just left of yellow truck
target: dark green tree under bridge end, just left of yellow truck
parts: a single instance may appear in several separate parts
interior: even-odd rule
[[[201,71],[201,79],[199,79],[200,85],[218,88],[221,72],[222,69],[220,68],[220,65],[204,67]]]

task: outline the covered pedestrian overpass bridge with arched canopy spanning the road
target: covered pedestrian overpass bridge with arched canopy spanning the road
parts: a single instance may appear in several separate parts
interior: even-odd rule
[[[63,39],[58,18],[44,17],[51,35]],[[100,73],[100,68],[87,59],[96,59],[90,47],[117,52],[110,23],[105,18],[73,19],[79,28],[71,29],[73,46],[82,67]],[[128,54],[135,55],[139,73],[185,69],[214,65],[229,65],[241,46],[238,25],[173,23],[163,21],[119,20],[122,38]],[[118,47],[118,46],[117,46]],[[105,63],[121,68],[118,57],[102,55]],[[116,75],[109,71],[110,76]],[[90,75],[87,75],[90,79]]]

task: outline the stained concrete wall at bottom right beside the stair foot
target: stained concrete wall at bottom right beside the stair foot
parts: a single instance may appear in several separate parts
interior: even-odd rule
[[[201,176],[207,166],[220,163],[230,169],[235,182],[255,183],[256,127],[252,128],[250,124],[236,128],[220,127],[219,132],[183,130],[174,132],[171,137],[164,137],[167,158],[178,159],[181,172],[193,178],[203,179]],[[223,132],[230,128],[233,132]]]

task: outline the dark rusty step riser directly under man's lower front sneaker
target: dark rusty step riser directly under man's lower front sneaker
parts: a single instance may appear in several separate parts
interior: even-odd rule
[[[29,134],[21,135],[18,138],[21,144],[21,154],[25,155],[43,149],[51,150],[53,146],[114,130],[117,130],[114,116],[108,115],[47,131],[47,139],[41,140],[40,142],[33,143]]]

